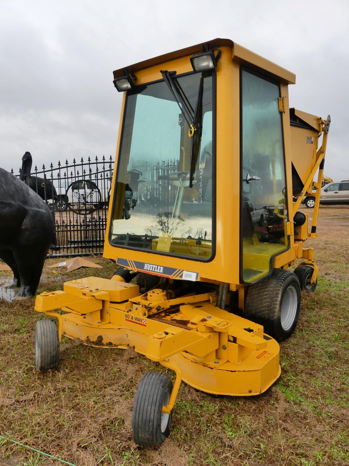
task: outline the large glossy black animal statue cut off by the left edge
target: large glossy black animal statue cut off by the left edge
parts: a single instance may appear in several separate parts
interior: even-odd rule
[[[54,220],[40,196],[0,168],[0,259],[13,271],[19,287],[15,299],[35,295],[54,236]]]

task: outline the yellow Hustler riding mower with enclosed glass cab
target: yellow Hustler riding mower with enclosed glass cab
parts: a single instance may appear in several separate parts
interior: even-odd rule
[[[123,101],[103,255],[119,268],[37,296],[58,329],[37,323],[35,358],[56,367],[65,335],[173,370],[173,385],[161,372],[141,380],[138,445],[168,436],[181,380],[249,396],[280,376],[278,342],[295,331],[301,289],[316,287],[304,241],[317,236],[330,122],[289,109],[293,83],[227,39],[114,71]],[[310,226],[297,209],[314,187]]]

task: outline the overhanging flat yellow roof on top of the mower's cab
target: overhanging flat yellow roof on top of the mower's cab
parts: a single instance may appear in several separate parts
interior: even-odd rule
[[[121,77],[124,69],[127,69],[128,73],[136,73],[141,69],[146,69],[152,66],[160,65],[164,62],[169,62],[171,60],[175,60],[188,55],[200,54],[202,52],[202,46],[205,46],[207,44],[210,50],[213,48],[230,47],[232,49],[233,61],[249,65],[256,71],[266,71],[267,74],[271,77],[278,78],[278,80],[287,84],[295,84],[295,74],[291,73],[287,69],[282,68],[279,65],[276,65],[273,62],[270,62],[266,58],[263,58],[260,55],[255,54],[254,52],[251,52],[247,48],[242,47],[241,45],[231,41],[230,39],[213,39],[212,41],[201,42],[200,44],[192,45],[186,48],[181,48],[180,50],[175,50],[175,52],[159,55],[157,57],[144,60],[143,62],[134,63],[133,65],[128,65],[123,68],[116,69],[113,73],[114,79]]]

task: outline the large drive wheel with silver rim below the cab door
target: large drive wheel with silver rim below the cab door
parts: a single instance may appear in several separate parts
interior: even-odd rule
[[[266,334],[282,342],[295,331],[300,307],[297,276],[274,269],[269,277],[248,288],[244,317],[263,325]]]

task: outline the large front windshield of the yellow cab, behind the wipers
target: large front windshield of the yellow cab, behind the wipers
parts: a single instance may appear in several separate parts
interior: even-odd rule
[[[183,75],[175,84],[186,107],[199,115],[197,137],[189,136],[185,115],[165,82],[128,91],[109,241],[208,260],[213,231],[212,74]]]

